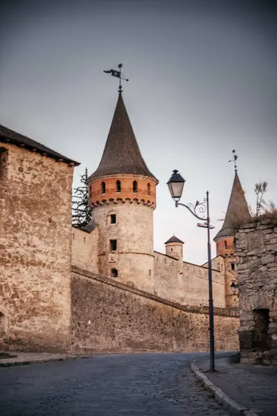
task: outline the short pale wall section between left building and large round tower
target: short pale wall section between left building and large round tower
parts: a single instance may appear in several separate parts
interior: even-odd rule
[[[71,264],[98,275],[98,227],[92,232],[72,227]]]

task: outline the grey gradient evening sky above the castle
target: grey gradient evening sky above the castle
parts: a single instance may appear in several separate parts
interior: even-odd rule
[[[0,123],[96,170],[123,98],[148,168],[159,179],[154,249],[175,234],[184,260],[206,262],[206,230],[175,208],[210,193],[213,238],[233,184],[232,150],[247,202],[267,181],[277,204],[277,15],[274,1],[0,2]],[[212,243],[215,256],[215,243]]]

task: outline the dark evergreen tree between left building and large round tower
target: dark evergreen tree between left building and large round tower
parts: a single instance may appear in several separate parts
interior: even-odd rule
[[[81,177],[80,187],[74,188],[72,200],[72,224],[83,228],[91,220],[91,207],[89,207],[89,187],[87,186],[87,168]]]

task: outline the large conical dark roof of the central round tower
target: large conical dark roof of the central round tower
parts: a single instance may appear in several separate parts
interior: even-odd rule
[[[158,182],[141,156],[121,93],[118,96],[102,159],[88,182],[98,177],[117,174],[150,176]]]

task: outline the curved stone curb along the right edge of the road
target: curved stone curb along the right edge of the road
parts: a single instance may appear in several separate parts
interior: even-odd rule
[[[190,363],[190,370],[192,370],[196,378],[204,385],[204,388],[211,392],[213,397],[215,397],[215,400],[218,401],[219,404],[222,404],[222,407],[225,410],[228,410],[233,415],[238,416],[259,416],[258,413],[255,413],[251,409],[238,404],[236,401],[227,396],[221,388],[213,384],[194,363]]]

